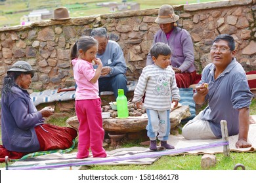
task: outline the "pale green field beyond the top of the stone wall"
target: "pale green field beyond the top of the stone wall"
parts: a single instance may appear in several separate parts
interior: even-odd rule
[[[114,1],[117,3],[121,3],[121,0],[108,0]],[[171,5],[182,5],[186,3],[203,3],[209,1],[217,1],[217,0],[176,0],[172,1]],[[6,0],[0,3],[0,27],[3,26],[13,26],[20,24],[20,18],[23,15],[28,15],[32,10],[38,10],[47,8],[48,10],[53,10],[57,7],[67,7],[70,10],[71,17],[78,16],[90,16],[93,14],[105,14],[110,13],[110,8],[99,7],[96,3],[102,3],[106,1],[102,0]],[[167,1],[160,0],[133,0],[127,2],[136,2],[140,3],[140,9],[146,8],[159,8],[161,5],[166,4]]]

